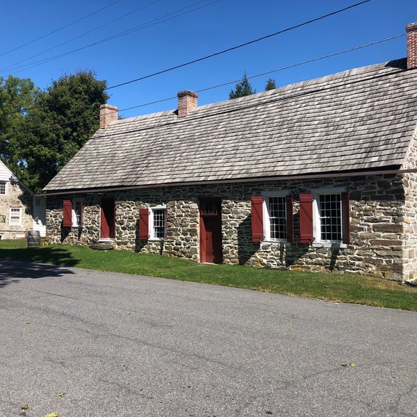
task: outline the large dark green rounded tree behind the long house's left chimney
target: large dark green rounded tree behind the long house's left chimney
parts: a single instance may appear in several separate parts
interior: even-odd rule
[[[26,172],[22,180],[41,190],[79,151],[99,127],[99,106],[109,96],[106,81],[79,71],[52,81],[28,111],[18,136],[17,159]]]

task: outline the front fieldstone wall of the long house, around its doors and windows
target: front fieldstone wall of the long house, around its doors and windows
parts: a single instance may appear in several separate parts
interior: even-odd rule
[[[407,263],[402,259],[402,239],[404,227],[409,227],[407,216],[404,218],[404,181],[401,176],[369,175],[297,179],[291,182],[144,188],[86,197],[80,194],[72,197],[84,198],[84,227],[68,230],[60,226],[63,197],[48,197],[47,233],[54,243],[96,243],[99,240],[100,199],[114,198],[115,247],[199,261],[199,197],[220,197],[223,263],[402,279]],[[300,243],[297,237],[300,231],[300,193],[338,187],[350,192],[350,245]],[[287,190],[293,195],[295,243],[252,242],[250,197],[268,190]],[[139,209],[160,204],[167,206],[167,238],[163,241],[139,240]],[[416,232],[417,227],[413,233]],[[409,238],[414,240],[412,236]]]

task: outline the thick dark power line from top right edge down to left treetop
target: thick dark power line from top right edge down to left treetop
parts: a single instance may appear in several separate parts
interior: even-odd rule
[[[195,63],[198,63],[198,62],[200,62],[202,60],[206,60],[208,58],[213,58],[213,56],[219,56],[219,55],[225,54],[226,52],[230,52],[230,51],[234,51],[235,49],[238,49],[238,48],[246,47],[247,45],[254,44],[255,42],[260,42],[261,40],[265,40],[265,39],[268,39],[268,38],[272,38],[273,36],[280,35],[281,33],[285,33],[285,32],[288,32],[288,31],[293,31],[294,29],[300,28],[302,26],[305,26],[306,24],[311,24],[313,22],[318,22],[319,20],[325,19],[326,17],[330,17],[330,16],[333,16],[333,15],[337,15],[338,13],[342,13],[345,10],[349,10],[349,9],[354,8],[354,7],[357,7],[357,6],[361,6],[361,4],[368,3],[369,1],[371,1],[371,0],[364,0],[364,1],[361,1],[359,3],[352,4],[352,6],[347,6],[345,8],[341,8],[339,10],[336,10],[336,11],[334,11],[332,13],[327,13],[327,15],[322,15],[320,17],[316,17],[316,19],[308,20],[306,22],[297,24],[295,26],[291,26],[289,28],[282,29],[281,31],[278,31],[278,32],[275,32],[275,33],[271,33],[270,35],[265,35],[265,36],[262,36],[261,38],[257,38],[257,39],[254,39],[254,40],[250,40],[249,42],[245,42],[243,44],[237,45],[236,47],[231,47],[231,48],[228,48],[228,49],[223,49],[222,51],[215,52],[214,54],[210,54],[210,55],[204,56],[202,58],[197,58],[195,60],[188,61],[187,63],[183,63],[183,64],[180,64],[180,65],[176,65],[175,67],[167,68],[166,70],[161,70],[161,71],[158,71],[158,72],[154,72],[153,74],[148,74],[148,75],[145,75],[145,76],[141,76],[138,79],[134,79],[134,80],[130,80],[130,81],[125,81],[124,83],[112,85],[111,87],[106,88],[106,90],[111,90],[112,88],[122,87],[122,85],[136,83],[137,81],[142,81],[144,79],[148,79],[148,78],[151,78],[151,77],[156,76],[156,75],[164,74],[165,72],[170,72],[172,70],[177,70],[178,68],[186,67],[187,65],[195,64]]]

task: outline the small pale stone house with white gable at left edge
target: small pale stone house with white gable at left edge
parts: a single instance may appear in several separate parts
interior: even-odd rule
[[[24,238],[33,229],[33,192],[0,161],[0,239]]]

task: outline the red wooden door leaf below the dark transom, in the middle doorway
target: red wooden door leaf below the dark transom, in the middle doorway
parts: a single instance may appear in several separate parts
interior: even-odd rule
[[[222,263],[222,219],[219,217],[204,217],[200,252],[202,262]],[[204,236],[205,235],[205,236]]]

